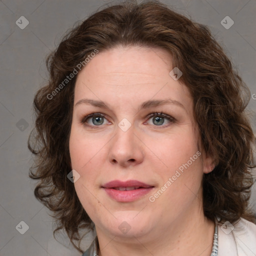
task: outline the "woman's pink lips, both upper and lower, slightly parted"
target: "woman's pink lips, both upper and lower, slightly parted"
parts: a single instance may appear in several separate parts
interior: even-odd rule
[[[119,202],[131,202],[146,195],[154,186],[138,180],[112,180],[102,188],[108,196]]]

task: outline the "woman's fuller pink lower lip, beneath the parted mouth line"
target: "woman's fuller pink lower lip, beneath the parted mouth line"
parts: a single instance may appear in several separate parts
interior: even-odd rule
[[[118,202],[131,202],[149,193],[153,187],[138,188],[133,190],[117,190],[114,188],[104,188],[106,193]]]

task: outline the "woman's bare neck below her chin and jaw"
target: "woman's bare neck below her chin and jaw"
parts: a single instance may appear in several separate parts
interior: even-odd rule
[[[120,237],[102,232],[96,226],[99,256],[200,255],[211,253],[214,222],[199,207],[176,217],[169,225],[157,226],[150,233]]]

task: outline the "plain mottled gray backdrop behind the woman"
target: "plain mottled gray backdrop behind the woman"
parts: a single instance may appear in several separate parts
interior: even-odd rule
[[[32,100],[45,83],[45,56],[61,35],[107,1],[103,0],[0,0],[0,255],[80,255],[64,234],[52,236],[52,219],[33,196],[28,178],[32,164],[26,143],[33,125]],[[194,21],[207,24],[249,86],[256,93],[256,0],[164,0]],[[226,29],[220,21],[229,16]],[[15,23],[24,16],[24,28]],[[20,22],[20,21],[19,21]],[[230,24],[229,21],[227,25]],[[24,24],[24,22],[22,23]],[[256,109],[256,94],[248,108]],[[256,118],[251,117],[255,133]],[[256,187],[251,204],[256,211]],[[20,234],[16,225],[29,229]],[[20,227],[20,225],[18,225]],[[24,228],[24,225],[22,226]],[[21,228],[20,228],[21,230]],[[84,242],[84,248],[91,237]]]

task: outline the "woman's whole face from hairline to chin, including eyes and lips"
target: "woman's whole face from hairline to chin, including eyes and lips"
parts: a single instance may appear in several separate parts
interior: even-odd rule
[[[120,46],[96,54],[77,76],[71,167],[97,232],[160,233],[202,207],[208,158],[171,62],[163,49]]]

